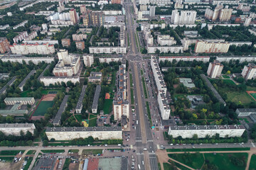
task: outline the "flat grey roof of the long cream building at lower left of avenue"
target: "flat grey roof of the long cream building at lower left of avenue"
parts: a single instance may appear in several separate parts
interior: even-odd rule
[[[80,132],[80,131],[122,131],[121,126],[115,127],[53,127],[46,128],[46,132]]]

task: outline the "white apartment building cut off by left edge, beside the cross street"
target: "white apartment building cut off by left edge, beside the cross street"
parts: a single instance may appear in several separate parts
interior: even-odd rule
[[[1,123],[0,131],[4,132],[4,135],[15,135],[20,136],[21,131],[26,134],[26,132],[31,132],[33,135],[36,126],[33,123]]]

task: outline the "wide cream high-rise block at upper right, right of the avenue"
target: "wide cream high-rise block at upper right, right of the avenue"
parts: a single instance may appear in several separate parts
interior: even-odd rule
[[[195,52],[196,53],[218,53],[228,52],[230,47],[229,42],[209,42],[204,40],[198,40],[196,42]]]

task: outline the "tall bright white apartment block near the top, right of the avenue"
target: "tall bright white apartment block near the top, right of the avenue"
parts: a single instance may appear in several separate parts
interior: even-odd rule
[[[194,24],[196,21],[196,11],[181,11],[181,14],[176,9],[171,13],[171,23],[176,25],[189,25]]]

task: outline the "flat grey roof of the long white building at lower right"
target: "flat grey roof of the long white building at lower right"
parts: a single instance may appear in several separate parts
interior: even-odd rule
[[[230,130],[245,129],[243,125],[183,125],[170,126],[171,130]]]

